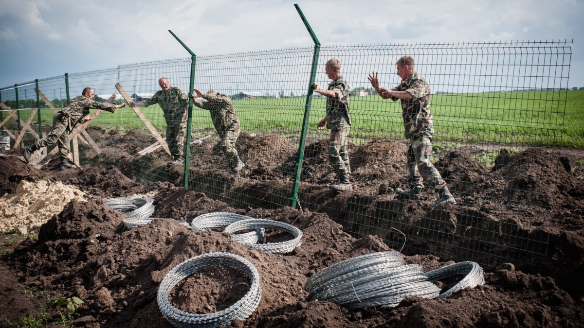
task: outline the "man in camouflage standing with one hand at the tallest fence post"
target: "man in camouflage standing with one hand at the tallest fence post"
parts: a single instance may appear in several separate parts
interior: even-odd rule
[[[336,191],[352,191],[349,165],[349,135],[351,119],[349,117],[349,83],[340,75],[340,61],[331,59],[325,65],[326,76],[333,80],[328,88],[319,89],[314,83],[314,92],[326,96],[326,116],[318,122],[317,128],[324,130],[325,126],[331,129],[329,138],[328,158],[335,169],[338,183],[329,185],[329,189]]]

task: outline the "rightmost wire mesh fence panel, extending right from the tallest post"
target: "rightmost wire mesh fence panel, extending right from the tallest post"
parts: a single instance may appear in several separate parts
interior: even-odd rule
[[[570,47],[567,41],[322,47],[319,71],[329,58],[338,59],[352,88],[353,191],[315,192],[338,178],[327,163],[329,132],[313,129],[303,168],[317,173],[303,176],[300,203],[328,213],[355,236],[378,235],[395,248],[404,243],[404,233],[408,253],[479,263],[530,263],[544,255],[547,234],[534,229],[549,224],[557,191],[551,186],[569,173],[550,152],[562,143]],[[378,72],[382,88],[400,90],[395,63],[404,55],[413,58],[415,72],[432,90],[426,100],[434,133],[427,134],[431,144],[420,158],[427,159],[431,149],[430,163],[456,206],[432,205],[442,179],[416,162],[415,151],[408,157],[412,139],[404,138],[400,100],[384,100],[367,79]],[[317,75],[319,85],[327,82],[326,75]],[[324,99],[316,100],[312,113],[322,116],[324,107]],[[406,162],[412,169],[418,163],[415,176]],[[420,200],[399,199],[394,189],[415,187],[420,173]]]

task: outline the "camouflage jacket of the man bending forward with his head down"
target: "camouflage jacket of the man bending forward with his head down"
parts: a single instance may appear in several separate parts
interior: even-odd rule
[[[211,113],[211,120],[213,120],[213,125],[215,125],[217,131],[225,131],[230,125],[239,124],[239,118],[235,114],[230,96],[223,93],[205,93],[203,99],[207,100],[207,102],[203,103],[199,100],[194,100],[193,104]]]

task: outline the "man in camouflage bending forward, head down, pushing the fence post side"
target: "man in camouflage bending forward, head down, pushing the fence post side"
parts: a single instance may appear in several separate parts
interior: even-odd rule
[[[207,102],[203,103],[194,94],[192,95],[194,106],[208,110],[211,114],[215,130],[217,130],[221,138],[221,151],[225,154],[229,169],[235,173],[241,171],[245,163],[241,161],[237,149],[235,149],[235,142],[239,137],[241,128],[239,126],[239,118],[237,118],[233,104],[231,104],[230,96],[213,90],[209,90],[204,94],[194,88],[193,91],[198,97],[203,97],[203,99],[207,100]]]

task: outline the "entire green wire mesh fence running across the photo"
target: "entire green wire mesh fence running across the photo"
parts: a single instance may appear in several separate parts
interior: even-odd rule
[[[555,196],[530,177],[542,153],[526,148],[553,151],[559,144],[571,41],[321,47],[314,40],[314,47],[121,65],[2,88],[0,101],[22,107],[3,133],[19,134],[37,106],[37,125],[27,130],[23,144],[38,138],[35,133],[46,135],[53,111],[35,89],[57,110],[86,86],[95,89],[96,100],[116,95],[120,102],[115,86],[120,83],[140,101],[160,89],[163,76],[192,92],[194,68],[194,88],[230,95],[237,111],[236,148],[246,163],[238,175],[227,169],[208,111],[192,101],[187,165],[169,165],[168,153],[152,146],[157,139],[148,123],[162,136],[167,128],[157,105],[140,108],[148,123],[129,107],[100,114],[80,134],[80,163],[115,165],[135,181],[168,181],[238,208],[292,205],[326,212],[354,236],[378,235],[396,249],[405,242],[404,253],[485,265],[531,263],[545,255],[548,239],[540,229],[552,215]],[[399,101],[381,99],[367,76],[379,72],[382,87],[399,85],[395,62],[402,55],[415,59],[416,72],[431,85],[433,162],[458,205],[431,206],[433,190],[423,190],[420,201],[398,200],[391,192],[409,188],[402,110]],[[325,116],[325,98],[311,88],[313,81],[321,88],[330,82],[325,62],[331,58],[341,62],[340,73],[352,88],[354,190],[343,193],[328,189],[336,181],[327,155],[329,131],[316,128]],[[0,113],[4,121],[10,111]],[[520,219],[526,213],[530,219]]]

